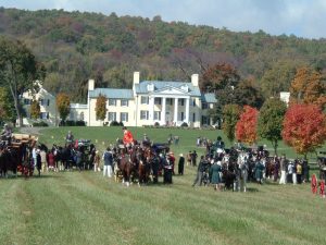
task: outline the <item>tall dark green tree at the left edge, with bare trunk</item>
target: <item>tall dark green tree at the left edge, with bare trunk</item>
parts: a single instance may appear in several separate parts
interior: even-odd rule
[[[20,125],[23,122],[20,96],[26,90],[35,93],[38,89],[35,82],[42,81],[45,75],[45,66],[23,42],[0,37],[0,85],[10,90]]]

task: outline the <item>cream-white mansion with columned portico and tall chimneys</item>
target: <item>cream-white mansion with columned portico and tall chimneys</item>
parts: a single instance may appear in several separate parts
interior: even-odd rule
[[[52,111],[55,110],[55,98],[43,89],[41,91],[45,96],[38,98],[46,101],[41,107],[42,120],[53,125],[53,117],[58,114]],[[103,121],[96,117],[96,101],[100,95],[108,99],[108,112]],[[26,96],[24,98],[28,100]],[[214,94],[200,91],[198,74],[191,76],[191,82],[166,82],[140,81],[139,72],[135,72],[131,89],[96,88],[95,81],[89,79],[87,105],[72,103],[67,120],[83,120],[88,126],[102,126],[116,121],[126,126],[178,126],[185,122],[189,126],[200,127],[214,123],[208,109],[212,109],[216,102]]]

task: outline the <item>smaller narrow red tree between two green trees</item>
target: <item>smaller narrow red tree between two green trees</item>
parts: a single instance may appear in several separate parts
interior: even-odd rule
[[[258,125],[259,111],[255,108],[244,106],[243,112],[236,125],[236,138],[239,142],[253,144],[258,139],[256,125]]]

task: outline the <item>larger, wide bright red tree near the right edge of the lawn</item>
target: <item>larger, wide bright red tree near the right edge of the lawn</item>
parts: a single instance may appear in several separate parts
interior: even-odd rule
[[[283,139],[306,157],[326,140],[326,118],[316,105],[291,105],[283,123]]]

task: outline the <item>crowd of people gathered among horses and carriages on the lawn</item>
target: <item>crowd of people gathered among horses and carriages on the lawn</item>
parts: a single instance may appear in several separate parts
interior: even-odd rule
[[[8,125],[1,133],[2,140],[10,142],[12,131]],[[178,144],[178,136],[170,135],[167,144],[174,140]],[[48,171],[70,171],[75,167],[77,170],[90,170],[103,172],[103,176],[112,177],[114,167],[117,162],[118,144],[126,149],[133,148],[135,144],[133,133],[123,127],[123,137],[117,145],[110,145],[104,152],[100,155],[99,150],[92,144],[85,145],[85,142],[75,140],[74,135],[68,131],[65,137],[65,146],[53,145],[48,149],[45,145],[34,146],[29,155],[29,166],[40,175]],[[151,140],[147,134],[143,134],[141,142],[145,146],[150,146]],[[215,142],[198,137],[197,146],[205,146],[205,155],[200,156],[196,150],[190,150],[186,156],[178,156],[177,174],[184,175],[185,163],[189,167],[196,167],[197,173],[192,186],[213,185],[215,189],[222,189],[228,175],[234,176],[234,182],[246,179],[246,181],[262,184],[266,179],[272,179],[279,184],[301,184],[310,181],[310,167],[306,160],[288,160],[285,155],[281,157],[271,157],[266,150],[259,147],[256,149],[243,149],[241,145],[225,148],[222,137]],[[151,159],[152,181],[159,182],[159,175],[162,173],[163,183],[173,183],[175,175],[176,157],[170,151],[154,152]],[[243,172],[244,176],[243,176]],[[242,175],[241,175],[242,174]]]

